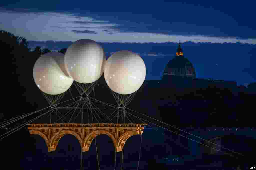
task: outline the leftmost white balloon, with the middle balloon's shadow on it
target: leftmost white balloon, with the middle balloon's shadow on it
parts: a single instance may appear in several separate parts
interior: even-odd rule
[[[38,58],[33,69],[34,80],[43,92],[58,95],[67,91],[73,83],[64,65],[64,54],[49,52]]]

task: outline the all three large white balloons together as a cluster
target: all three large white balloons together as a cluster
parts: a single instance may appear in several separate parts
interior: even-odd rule
[[[73,81],[93,83],[103,74],[116,93],[127,95],[137,91],[146,77],[143,59],[132,51],[118,51],[108,60],[100,44],[81,39],[71,44],[66,54],[49,52],[35,63],[33,76],[41,91],[58,95],[67,91]]]

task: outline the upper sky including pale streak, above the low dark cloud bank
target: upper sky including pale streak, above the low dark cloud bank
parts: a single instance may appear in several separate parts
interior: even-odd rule
[[[0,27],[28,40],[256,43],[254,1],[46,0],[0,7]]]

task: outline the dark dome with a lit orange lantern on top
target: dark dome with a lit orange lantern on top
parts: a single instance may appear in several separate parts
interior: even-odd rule
[[[176,56],[167,63],[164,69],[163,79],[170,79],[173,76],[190,78],[196,77],[196,70],[193,64],[186,57],[184,57],[180,43]]]

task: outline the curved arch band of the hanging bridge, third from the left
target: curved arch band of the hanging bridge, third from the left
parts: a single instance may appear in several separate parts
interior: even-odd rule
[[[91,132],[90,134],[88,134],[86,136],[86,138],[83,141],[83,152],[85,151],[89,151],[90,146],[91,146],[91,142],[93,141],[93,139],[98,136],[98,135],[107,135],[109,136],[113,143],[114,143],[114,147],[116,147],[116,138],[114,137],[113,134],[111,134],[110,132],[106,131],[106,130],[95,130],[93,132]]]

